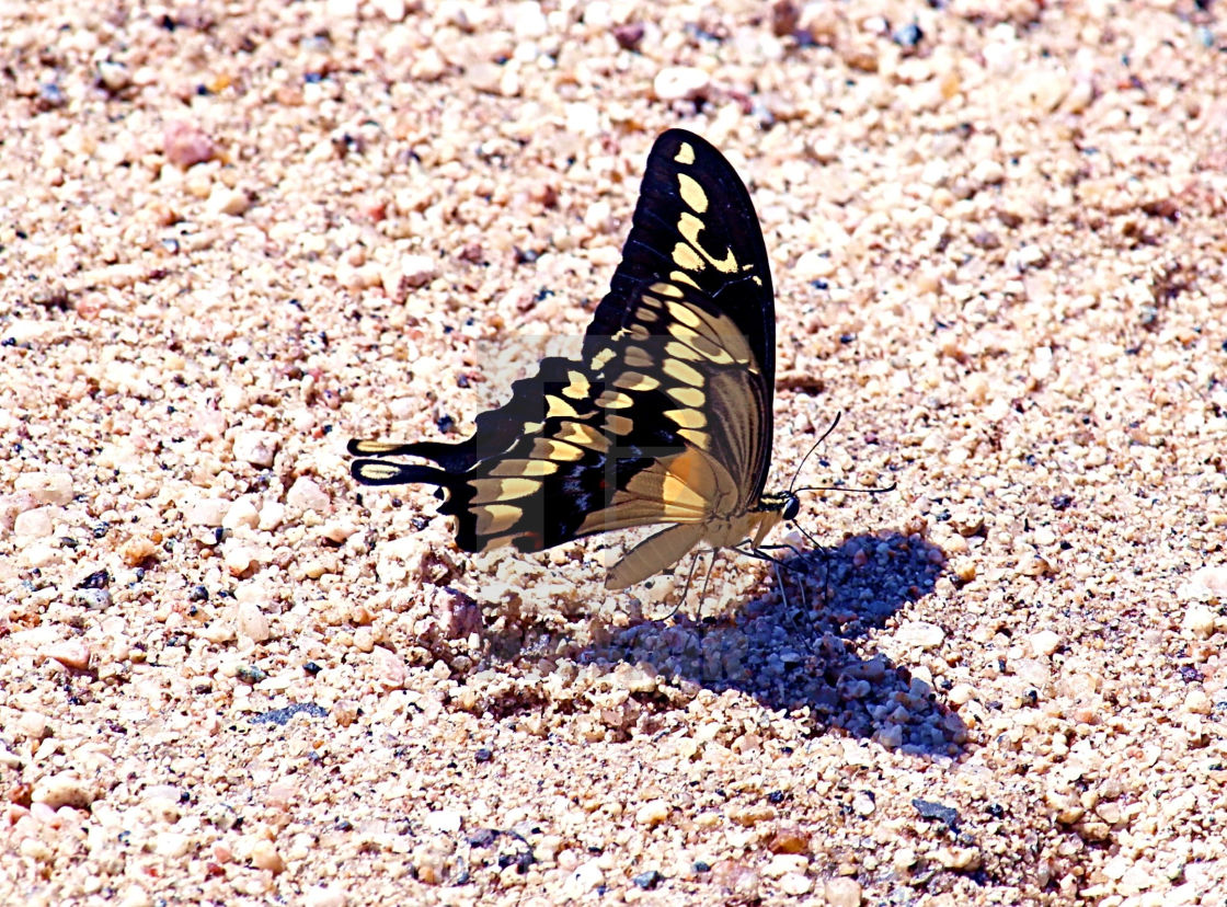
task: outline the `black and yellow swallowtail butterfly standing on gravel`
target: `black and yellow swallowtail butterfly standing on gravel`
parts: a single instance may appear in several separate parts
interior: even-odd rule
[[[800,509],[791,491],[763,492],[774,373],[771,270],[750,194],[710,144],[670,129],[648,156],[579,358],[542,360],[466,441],[350,441],[361,458],[351,474],[438,486],[465,551],[542,551],[667,524],[609,571],[610,589],[701,542],[763,556],[767,533]],[[388,459],[402,455],[433,465]]]

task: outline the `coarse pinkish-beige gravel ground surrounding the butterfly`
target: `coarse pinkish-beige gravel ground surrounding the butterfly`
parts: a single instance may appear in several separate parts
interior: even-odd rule
[[[934,6],[0,2],[0,901],[1221,905],[1227,28]],[[583,331],[672,125],[769,486],[898,485],[784,594],[347,475]]]

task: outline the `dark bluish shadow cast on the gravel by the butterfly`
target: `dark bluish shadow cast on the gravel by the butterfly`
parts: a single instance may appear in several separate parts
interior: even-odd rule
[[[944,568],[941,550],[928,541],[899,533],[858,535],[789,557],[766,574],[762,594],[721,605],[719,617],[679,612],[643,620],[610,630],[574,658],[636,664],[674,686],[739,690],[814,734],[837,728],[891,749],[955,756],[967,736],[958,716],[907,665],[869,650],[867,639],[870,630],[930,594]],[[704,610],[712,611],[710,599]],[[556,650],[561,638],[547,632],[519,653],[503,654]]]

